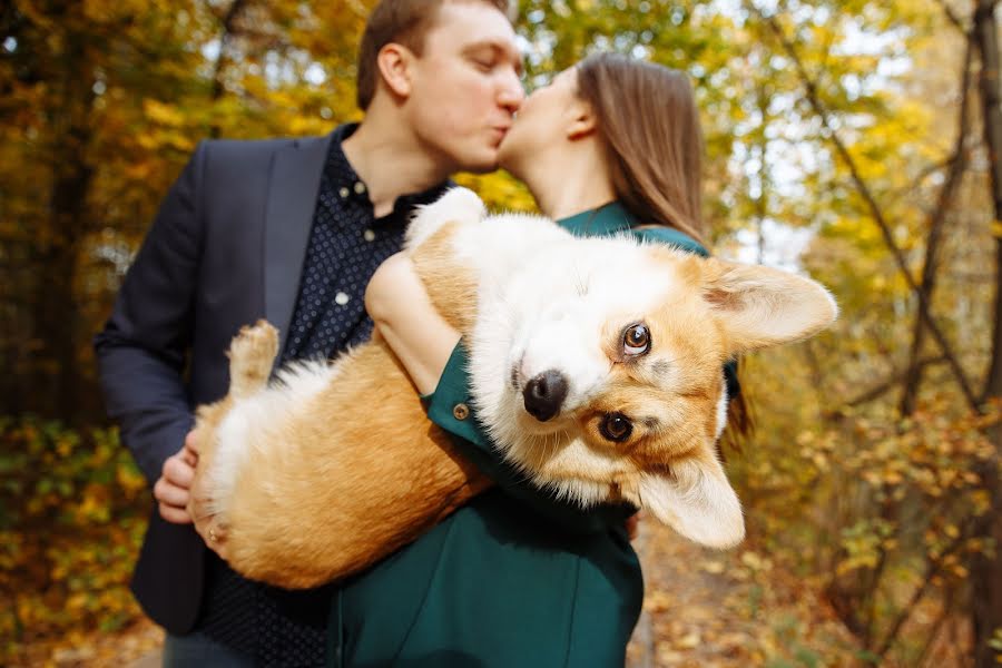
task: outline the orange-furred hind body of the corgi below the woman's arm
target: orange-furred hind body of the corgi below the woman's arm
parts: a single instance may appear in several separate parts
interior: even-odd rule
[[[227,547],[250,578],[302,588],[348,576],[490,484],[428,420],[385,344],[360,346],[326,377],[285,390],[302,404],[244,415],[261,431],[243,444]]]

